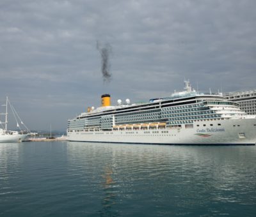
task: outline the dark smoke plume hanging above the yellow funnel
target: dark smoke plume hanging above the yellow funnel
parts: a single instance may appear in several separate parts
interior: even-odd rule
[[[110,63],[109,56],[112,54],[112,47],[109,43],[105,43],[104,47],[100,45],[99,41],[97,41],[97,50],[100,52],[101,56],[101,71],[104,82],[110,82],[111,73],[109,72]]]

